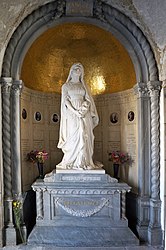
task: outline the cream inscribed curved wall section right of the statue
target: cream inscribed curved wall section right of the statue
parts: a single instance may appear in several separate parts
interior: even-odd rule
[[[101,101],[102,100],[102,101]],[[121,150],[128,152],[134,162],[132,167],[121,168],[120,178],[129,183],[135,192],[138,186],[137,165],[137,102],[133,90],[103,95],[96,99],[97,108],[101,105],[102,127],[98,127],[97,134],[102,134],[103,139],[103,163],[105,169],[112,174],[112,162],[108,160],[108,152]],[[134,118],[129,120],[129,112]],[[111,122],[111,114],[116,113],[118,121]],[[101,131],[100,131],[101,130]]]

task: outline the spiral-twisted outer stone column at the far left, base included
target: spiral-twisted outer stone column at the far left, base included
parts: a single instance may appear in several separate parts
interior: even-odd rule
[[[12,215],[12,161],[11,161],[11,86],[12,78],[2,78],[2,149],[4,181],[4,238],[5,245],[16,243]]]

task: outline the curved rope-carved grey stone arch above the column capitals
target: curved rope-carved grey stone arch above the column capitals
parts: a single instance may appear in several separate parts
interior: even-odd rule
[[[86,2],[86,1],[85,1]],[[158,70],[150,45],[142,31],[124,14],[100,0],[89,1],[92,13],[84,16],[66,13],[70,1],[54,1],[33,11],[15,30],[7,46],[2,76],[19,79],[23,58],[33,41],[45,30],[63,22],[82,21],[111,31],[128,51],[137,76],[137,82],[155,81]],[[91,7],[91,6],[90,6]]]

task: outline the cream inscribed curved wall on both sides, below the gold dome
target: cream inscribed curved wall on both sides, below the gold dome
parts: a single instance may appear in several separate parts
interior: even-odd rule
[[[101,161],[105,169],[111,173],[112,167],[108,160],[109,151],[123,150],[137,159],[137,148],[135,146],[137,145],[136,98],[132,90],[127,90],[98,96],[94,100],[100,119],[99,125],[94,129],[94,159]],[[27,119],[21,120],[22,155],[25,156],[26,152],[32,149],[46,149],[49,152],[46,171],[50,171],[55,168],[63,156],[62,151],[57,148],[60,122],[52,121],[54,113],[57,113],[60,118],[60,96],[55,94],[44,95],[25,88],[21,98],[21,108],[23,107],[27,110]],[[42,114],[41,121],[35,120],[34,114],[37,110]],[[133,121],[128,120],[128,112],[130,111],[133,111],[135,115]],[[112,113],[118,114],[116,123],[111,122],[110,116]],[[24,159],[22,163],[22,165],[26,165]],[[27,169],[26,171],[28,171]],[[26,187],[29,183],[30,187],[37,171],[32,168],[31,174],[26,175],[25,172],[23,182],[25,182]],[[125,175],[122,171],[121,178],[137,187],[137,172],[137,165],[134,165],[129,169],[128,175]]]

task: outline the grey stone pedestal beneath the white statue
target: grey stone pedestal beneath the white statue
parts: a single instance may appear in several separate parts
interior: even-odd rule
[[[33,184],[37,223],[29,245],[109,247],[138,245],[125,217],[130,187],[104,170],[53,171]]]

